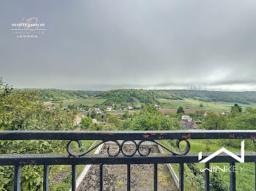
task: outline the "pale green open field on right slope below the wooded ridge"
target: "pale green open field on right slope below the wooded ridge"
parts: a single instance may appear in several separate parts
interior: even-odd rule
[[[184,100],[170,100],[165,98],[159,98],[158,101],[161,103],[162,106],[165,108],[178,108],[182,106],[184,109],[205,109],[210,112],[230,112],[230,107],[236,103],[230,102],[204,102],[204,101],[197,101],[195,99],[184,99]],[[203,104],[203,106],[200,106]],[[250,105],[239,104],[243,108],[247,106],[256,107],[255,103]]]

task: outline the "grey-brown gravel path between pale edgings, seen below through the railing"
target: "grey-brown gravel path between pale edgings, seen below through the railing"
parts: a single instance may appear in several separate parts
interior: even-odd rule
[[[112,144],[111,149],[116,145]],[[152,152],[159,152],[156,146]],[[102,147],[101,154],[107,152],[108,145]],[[132,146],[125,145],[127,151]],[[117,149],[117,147],[116,147]],[[175,186],[168,168],[164,164],[158,164],[158,190],[172,191],[178,190]],[[78,188],[79,191],[99,190],[99,165],[91,165],[91,168]],[[103,190],[105,191],[125,191],[127,190],[127,165],[104,165],[103,166]],[[154,190],[154,165],[131,165],[131,190],[151,191]]]

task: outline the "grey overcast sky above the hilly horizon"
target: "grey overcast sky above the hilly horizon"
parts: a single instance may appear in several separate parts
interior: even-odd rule
[[[10,29],[37,17],[45,34]],[[14,87],[256,90],[256,1],[0,2],[0,77]]]

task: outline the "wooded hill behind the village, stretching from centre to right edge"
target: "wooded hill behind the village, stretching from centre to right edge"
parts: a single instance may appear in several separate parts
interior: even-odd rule
[[[102,98],[116,103],[140,101],[144,104],[157,104],[157,98],[184,99],[193,98],[199,101],[225,101],[240,104],[256,103],[256,92],[219,92],[206,90],[109,90],[99,94]]]

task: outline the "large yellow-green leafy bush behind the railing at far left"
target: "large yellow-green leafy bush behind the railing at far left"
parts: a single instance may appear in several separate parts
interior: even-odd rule
[[[47,111],[36,92],[13,92],[0,79],[0,130],[70,130],[76,112],[62,111],[61,106]],[[0,141],[1,154],[63,152],[67,141]],[[21,189],[42,188],[42,167],[26,165],[21,168]],[[0,168],[0,190],[13,190],[14,168]]]

